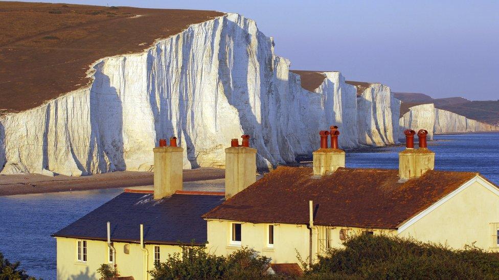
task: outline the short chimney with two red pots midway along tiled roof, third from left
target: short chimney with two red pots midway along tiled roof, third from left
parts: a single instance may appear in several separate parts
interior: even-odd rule
[[[313,152],[313,175],[323,176],[345,167],[345,151],[338,148],[338,126],[331,126],[331,131],[321,131],[321,148]],[[328,148],[327,136],[331,136],[331,148]]]

